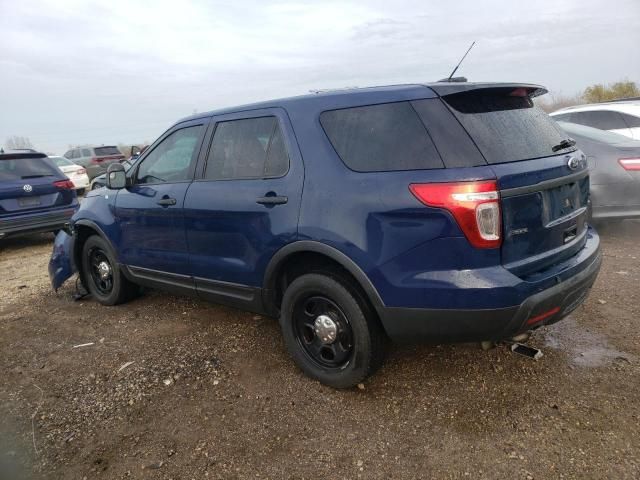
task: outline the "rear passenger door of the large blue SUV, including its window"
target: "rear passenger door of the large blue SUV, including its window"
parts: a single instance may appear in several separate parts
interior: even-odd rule
[[[296,238],[302,161],[282,109],[214,117],[211,130],[185,199],[189,259],[200,295],[251,308],[269,259]]]

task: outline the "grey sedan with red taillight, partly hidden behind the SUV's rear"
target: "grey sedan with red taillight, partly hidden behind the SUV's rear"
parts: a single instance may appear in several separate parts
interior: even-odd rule
[[[592,217],[640,217],[640,141],[576,123],[558,124],[587,155]]]

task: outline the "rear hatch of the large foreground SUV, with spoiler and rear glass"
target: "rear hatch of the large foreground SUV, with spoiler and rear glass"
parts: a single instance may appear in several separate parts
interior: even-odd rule
[[[545,90],[515,84],[432,88],[495,173],[503,265],[526,277],[575,255],[586,241],[588,167],[567,134],[533,104]]]

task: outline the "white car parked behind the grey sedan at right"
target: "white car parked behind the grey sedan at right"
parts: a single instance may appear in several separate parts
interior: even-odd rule
[[[576,105],[550,115],[559,122],[578,123],[640,140],[639,100]]]

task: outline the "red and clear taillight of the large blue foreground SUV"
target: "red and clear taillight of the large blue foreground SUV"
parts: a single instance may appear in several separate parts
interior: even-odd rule
[[[451,212],[474,247],[500,246],[500,196],[495,181],[414,183],[409,189],[425,205]]]

